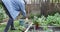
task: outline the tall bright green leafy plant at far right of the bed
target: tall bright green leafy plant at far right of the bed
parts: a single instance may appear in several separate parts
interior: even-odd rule
[[[48,25],[59,26],[59,24],[60,24],[60,14],[56,13],[54,16],[48,15],[46,21],[48,22]]]

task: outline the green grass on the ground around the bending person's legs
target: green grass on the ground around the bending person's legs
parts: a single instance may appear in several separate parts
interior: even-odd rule
[[[14,21],[14,26],[15,26],[15,28],[17,28],[17,30],[9,29],[8,32],[21,32],[21,30],[18,30],[19,29],[19,21]],[[5,27],[6,27],[6,24],[0,25],[0,32],[4,32]]]

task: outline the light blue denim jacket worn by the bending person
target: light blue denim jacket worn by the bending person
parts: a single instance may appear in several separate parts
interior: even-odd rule
[[[22,12],[24,17],[26,16],[24,0],[2,0],[2,2],[14,20],[20,12]]]

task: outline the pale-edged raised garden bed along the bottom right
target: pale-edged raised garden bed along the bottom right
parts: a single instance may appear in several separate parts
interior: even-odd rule
[[[38,29],[36,30],[34,25],[30,28],[29,31],[32,32],[32,30],[33,30],[35,32],[37,32],[37,31],[46,32],[47,30],[44,30],[43,27],[47,27],[48,28],[47,30],[49,30],[51,32],[57,32],[57,31],[60,32],[60,26],[39,26]]]

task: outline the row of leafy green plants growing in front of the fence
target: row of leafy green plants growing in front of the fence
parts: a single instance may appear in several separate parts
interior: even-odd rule
[[[48,26],[60,26],[60,14],[56,13],[54,16],[48,15],[47,18],[44,16],[41,16],[40,18],[34,16],[33,23],[38,23],[39,26],[44,26],[44,30],[47,30]]]

